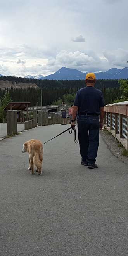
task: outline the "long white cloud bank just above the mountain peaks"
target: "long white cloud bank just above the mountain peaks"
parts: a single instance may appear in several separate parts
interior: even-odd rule
[[[0,74],[25,76],[27,74],[48,75],[54,73],[62,66],[78,69],[80,71],[107,71],[112,67],[123,68],[127,66],[128,50],[118,48],[114,51],[104,50],[102,55],[95,52],[61,50],[50,59],[30,58],[26,60],[13,59],[0,61]],[[17,65],[18,64],[18,65]]]

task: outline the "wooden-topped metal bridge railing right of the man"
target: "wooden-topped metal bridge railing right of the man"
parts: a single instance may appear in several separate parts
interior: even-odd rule
[[[105,106],[104,127],[128,150],[128,101]]]

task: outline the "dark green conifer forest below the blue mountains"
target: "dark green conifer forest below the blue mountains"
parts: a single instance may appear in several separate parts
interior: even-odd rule
[[[30,101],[31,106],[38,106],[41,102],[40,89],[43,89],[43,105],[73,103],[78,89],[85,86],[85,80],[35,80],[17,78],[12,76],[0,77],[0,80],[8,80],[26,83],[36,83],[39,88],[8,88],[12,101]],[[116,100],[121,100],[123,90],[121,81],[128,84],[128,80],[97,80],[96,88],[104,94],[105,104],[110,104]],[[0,97],[5,94],[5,90],[0,90]],[[126,95],[125,95],[126,96]]]

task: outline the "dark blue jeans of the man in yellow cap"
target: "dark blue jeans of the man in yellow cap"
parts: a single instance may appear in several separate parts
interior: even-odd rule
[[[78,139],[82,161],[95,163],[99,146],[99,116],[78,117]]]

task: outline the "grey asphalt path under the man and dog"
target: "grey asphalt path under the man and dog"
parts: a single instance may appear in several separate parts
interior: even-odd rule
[[[81,166],[79,145],[66,133],[45,145],[42,175],[28,171],[22,144],[67,127],[38,127],[0,142],[0,255],[128,255],[128,165],[102,138],[97,169]]]

